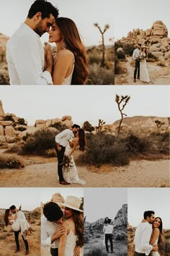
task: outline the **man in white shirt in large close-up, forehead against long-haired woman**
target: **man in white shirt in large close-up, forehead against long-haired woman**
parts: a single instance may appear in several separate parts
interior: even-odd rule
[[[53,55],[45,51],[40,37],[49,32],[58,17],[58,9],[45,0],[36,0],[27,19],[6,44],[10,85],[52,85]]]

